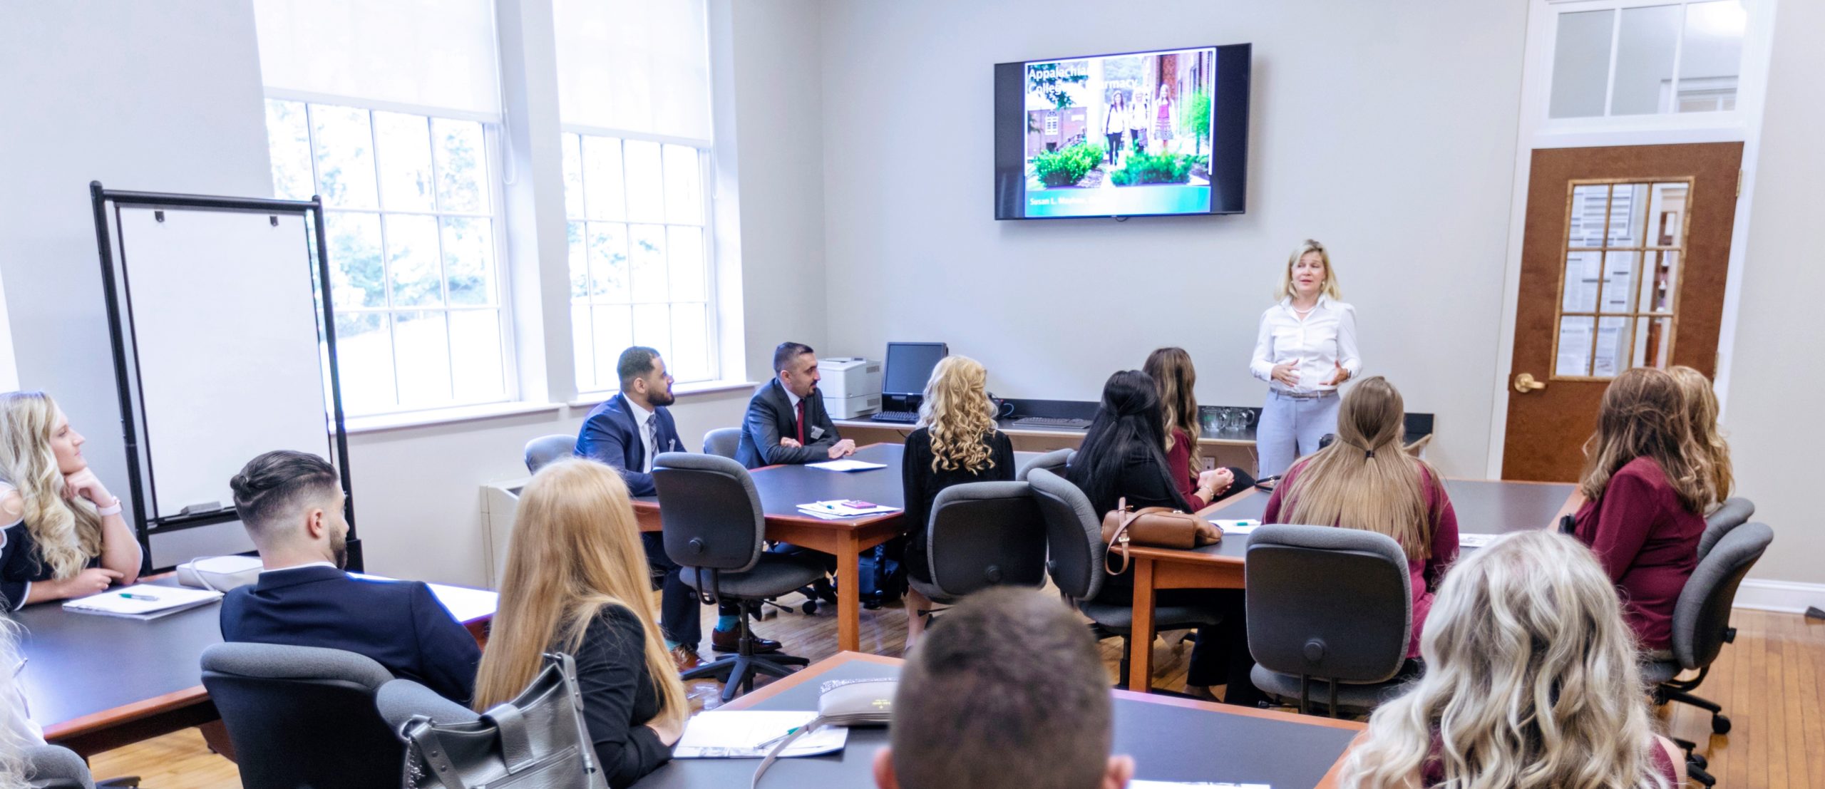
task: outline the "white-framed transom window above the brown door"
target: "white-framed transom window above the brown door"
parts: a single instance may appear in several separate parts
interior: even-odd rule
[[[1548,117],[1732,111],[1743,0],[1555,4]]]

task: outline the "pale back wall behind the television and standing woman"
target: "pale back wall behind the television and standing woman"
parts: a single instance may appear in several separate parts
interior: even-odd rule
[[[1069,20],[1064,24],[1062,20]],[[1095,400],[1159,345],[1199,400],[1254,405],[1287,254],[1332,250],[1365,374],[1480,475],[1502,312],[1526,4],[827,2],[830,352],[944,340],[1004,396]],[[1254,44],[1248,214],[995,221],[991,66]]]

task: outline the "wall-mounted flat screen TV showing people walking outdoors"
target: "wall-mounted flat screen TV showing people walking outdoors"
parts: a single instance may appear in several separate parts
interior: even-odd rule
[[[995,66],[995,217],[1241,214],[1248,44]]]

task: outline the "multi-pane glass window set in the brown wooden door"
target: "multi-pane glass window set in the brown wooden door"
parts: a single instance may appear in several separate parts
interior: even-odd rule
[[[1690,179],[1571,183],[1553,378],[1668,365],[1690,194]]]

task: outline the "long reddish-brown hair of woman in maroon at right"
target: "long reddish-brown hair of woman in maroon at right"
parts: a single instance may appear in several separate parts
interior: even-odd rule
[[[1639,457],[1652,458],[1679,493],[1679,504],[1703,513],[1710,504],[1710,471],[1690,453],[1686,398],[1666,371],[1632,367],[1602,391],[1597,431],[1584,442],[1579,491],[1597,500],[1610,477]]]

